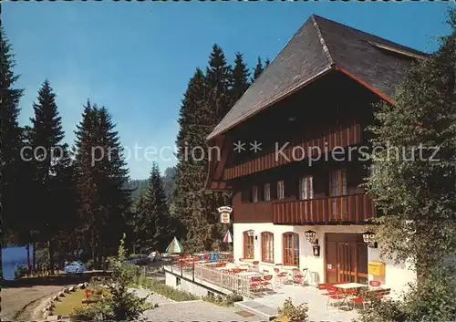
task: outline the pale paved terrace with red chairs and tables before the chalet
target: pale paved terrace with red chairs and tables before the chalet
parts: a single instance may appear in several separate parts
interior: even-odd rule
[[[220,294],[236,293],[244,296],[236,303],[264,317],[275,317],[277,307],[291,297],[294,304],[306,303],[311,320],[350,321],[358,317],[364,307],[361,290],[388,296],[389,289],[356,283],[321,284],[307,286],[299,272],[287,272],[280,265],[275,272],[259,272],[257,262],[244,259],[234,263],[233,256],[209,258],[200,255],[176,256],[164,266],[166,272],[205,286]],[[379,293],[377,293],[379,291]]]

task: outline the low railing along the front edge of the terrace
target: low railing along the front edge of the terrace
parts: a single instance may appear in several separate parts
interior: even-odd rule
[[[185,263],[179,260],[164,265],[164,269],[173,274],[191,279],[193,282],[202,284],[206,282],[241,296],[253,297],[250,289],[252,276],[235,275],[229,271],[218,270],[212,265],[201,265],[194,262]]]

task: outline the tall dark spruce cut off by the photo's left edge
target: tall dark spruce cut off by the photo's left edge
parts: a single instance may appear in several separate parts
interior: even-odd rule
[[[3,26],[0,26],[0,87],[2,99],[0,100],[0,120],[2,122],[0,141],[0,165],[2,167],[2,236],[18,234],[22,231],[22,223],[25,218],[21,217],[21,205],[24,197],[20,192],[20,176],[24,173],[20,170],[22,160],[20,151],[22,148],[22,130],[18,125],[19,100],[23,89],[15,88],[19,78],[13,68],[16,65],[14,54],[5,35]],[[20,234],[20,233],[19,233]],[[21,238],[20,238],[21,239]]]

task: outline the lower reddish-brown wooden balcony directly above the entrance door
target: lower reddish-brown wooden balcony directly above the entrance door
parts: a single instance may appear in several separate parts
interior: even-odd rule
[[[274,223],[366,223],[376,216],[367,194],[273,203]]]

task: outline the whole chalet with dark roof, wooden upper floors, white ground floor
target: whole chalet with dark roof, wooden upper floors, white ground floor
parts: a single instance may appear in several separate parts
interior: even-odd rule
[[[426,56],[308,18],[207,138],[206,186],[233,192],[236,259],[306,269],[312,283],[375,279],[397,294],[414,280],[363,239],[378,212],[362,183],[375,103],[394,105],[405,69]]]

